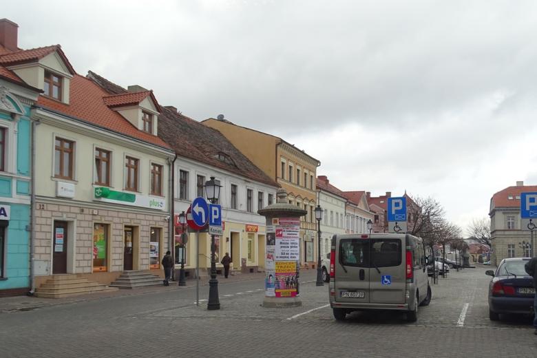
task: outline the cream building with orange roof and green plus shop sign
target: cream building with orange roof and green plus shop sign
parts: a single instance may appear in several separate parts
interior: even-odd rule
[[[44,90],[32,113],[36,286],[56,274],[109,284],[123,271],[160,273],[174,154],[156,136],[152,92],[109,94],[59,46],[18,58],[14,72]]]

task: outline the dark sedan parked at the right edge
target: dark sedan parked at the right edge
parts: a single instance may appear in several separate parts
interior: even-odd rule
[[[535,288],[533,278],[524,265],[530,259],[514,257],[503,259],[496,272],[488,270],[487,275],[494,277],[489,284],[489,318],[500,319],[503,313],[533,314]]]

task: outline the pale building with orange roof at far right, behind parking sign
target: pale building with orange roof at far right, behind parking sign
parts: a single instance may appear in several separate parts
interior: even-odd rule
[[[490,199],[490,258],[494,265],[506,257],[535,256],[537,233],[531,242],[530,231],[520,229],[520,193],[527,191],[537,191],[537,185],[516,182],[516,186],[498,191]]]

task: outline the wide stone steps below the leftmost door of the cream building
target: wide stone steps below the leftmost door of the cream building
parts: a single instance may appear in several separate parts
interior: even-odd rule
[[[78,275],[54,275],[45,284],[36,288],[34,295],[45,298],[64,298],[117,290],[118,288],[89,281],[86,278],[78,277]]]

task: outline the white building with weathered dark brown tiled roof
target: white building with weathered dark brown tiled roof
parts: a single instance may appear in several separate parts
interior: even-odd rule
[[[220,181],[223,235],[215,236],[217,270],[225,253],[231,257],[231,274],[253,273],[264,268],[266,222],[257,213],[275,202],[279,185],[246,158],[220,131],[183,116],[175,107],[162,109],[159,136],[177,154],[174,163],[174,211],[176,218],[187,211],[193,199],[205,198],[204,182]],[[177,220],[176,220],[177,223]],[[185,250],[187,276],[196,267],[196,235],[189,234],[185,246],[180,240],[182,227],[176,227],[176,268]],[[211,266],[211,236],[199,234],[200,267]]]

